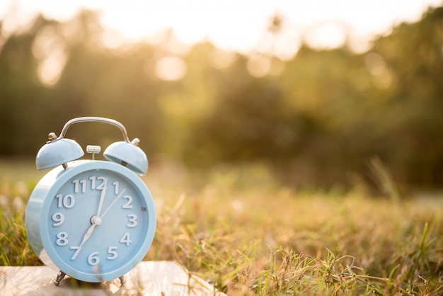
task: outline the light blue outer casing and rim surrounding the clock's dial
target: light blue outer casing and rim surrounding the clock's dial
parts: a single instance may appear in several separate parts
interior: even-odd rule
[[[85,273],[84,271],[79,271],[76,268],[72,268],[64,259],[59,256],[59,254],[57,254],[56,249],[54,249],[54,243],[51,242],[49,228],[47,227],[47,219],[49,219],[49,210],[52,203],[52,198],[50,198],[50,196],[55,196],[55,194],[57,194],[57,191],[74,176],[80,173],[84,173],[85,171],[96,169],[116,173],[117,175],[121,176],[121,178],[126,178],[127,181],[130,181],[130,183],[132,183],[132,186],[137,187],[137,190],[139,190],[139,192],[141,193],[141,197],[146,203],[148,227],[146,228],[146,233],[143,234],[144,239],[142,244],[140,245],[136,254],[129,261],[127,261],[122,266],[116,267],[113,271],[92,274]],[[38,192],[40,190],[44,190],[44,193]],[[36,194],[40,196],[40,201],[35,200],[35,198],[33,200],[33,195],[35,194],[35,192],[38,192]],[[40,235],[38,236],[38,238],[30,237],[31,247],[33,247],[35,253],[47,266],[50,266],[52,268],[56,267],[60,271],[63,271],[67,275],[78,280],[83,280],[89,283],[100,283],[107,280],[113,280],[115,278],[119,278],[122,275],[125,275],[125,273],[132,270],[132,268],[137,266],[137,264],[142,261],[144,256],[146,256],[146,253],[149,251],[152,241],[154,241],[156,230],[156,211],[152,195],[149,191],[149,188],[147,188],[142,179],[139,178],[139,176],[137,176],[133,171],[127,169],[121,164],[115,164],[110,161],[101,160],[78,160],[70,162],[67,169],[62,169],[61,167],[54,168],[40,180],[37,186],[35,186],[33,193],[31,193],[30,195],[28,207],[30,207],[30,205],[35,202],[41,203],[40,212],[38,213],[38,229]],[[28,217],[28,207],[26,210],[26,217]],[[33,219],[26,219],[25,222],[27,232],[28,224],[31,223],[30,220]],[[40,239],[40,241],[32,241],[33,239]],[[42,245],[42,249],[40,250],[40,252],[34,249],[33,245],[36,244]]]

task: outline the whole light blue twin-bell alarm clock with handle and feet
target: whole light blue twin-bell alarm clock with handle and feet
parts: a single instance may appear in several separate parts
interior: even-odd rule
[[[100,147],[88,146],[92,159],[65,138],[74,123],[98,122],[119,127],[124,141],[103,152],[108,161],[95,160]],[[36,156],[38,170],[50,169],[35,186],[25,213],[30,246],[45,265],[89,283],[120,278],[146,256],[154,239],[156,212],[149,189],[137,175],[148,169],[139,140],[127,137],[125,127],[109,118],[69,120],[59,137],[49,141]]]

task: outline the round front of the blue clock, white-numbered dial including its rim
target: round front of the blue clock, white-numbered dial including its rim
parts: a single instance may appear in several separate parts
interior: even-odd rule
[[[98,169],[98,162],[106,168]],[[154,203],[144,183],[120,164],[79,166],[62,171],[46,195],[40,217],[43,248],[73,278],[112,280],[148,251],[155,232]]]

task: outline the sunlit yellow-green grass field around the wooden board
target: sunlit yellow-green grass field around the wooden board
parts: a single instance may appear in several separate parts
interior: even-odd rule
[[[44,173],[0,162],[3,266],[41,264],[24,215]],[[145,260],[177,261],[228,295],[443,295],[441,194],[299,191],[260,165],[153,166],[144,181],[158,215]]]

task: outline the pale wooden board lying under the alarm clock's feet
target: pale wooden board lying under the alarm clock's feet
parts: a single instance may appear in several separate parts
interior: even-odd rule
[[[224,295],[173,261],[142,261],[125,275],[124,285],[119,279],[84,283],[66,276],[56,286],[55,278],[57,271],[47,266],[0,266],[0,295]]]

